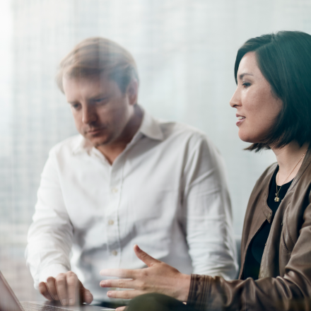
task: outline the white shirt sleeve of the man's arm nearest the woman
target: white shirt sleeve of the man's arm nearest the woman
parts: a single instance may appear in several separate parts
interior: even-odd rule
[[[194,274],[237,275],[230,197],[223,159],[206,137],[189,141],[182,177],[182,221]]]

